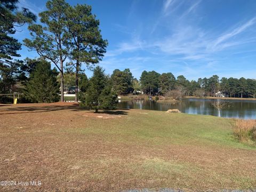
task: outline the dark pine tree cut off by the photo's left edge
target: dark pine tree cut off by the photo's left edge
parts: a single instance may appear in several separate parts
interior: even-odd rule
[[[0,0],[0,92],[12,92],[12,87],[17,81],[22,61],[13,60],[20,57],[17,52],[21,43],[10,36],[15,34],[17,28],[25,23],[36,20],[36,16],[28,9],[18,11],[18,0]]]

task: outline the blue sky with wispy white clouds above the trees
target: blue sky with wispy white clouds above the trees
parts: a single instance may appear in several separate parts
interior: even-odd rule
[[[92,5],[109,45],[100,65],[111,74],[130,68],[171,72],[175,77],[256,78],[255,0],[94,0]],[[38,14],[46,1],[20,0]],[[39,19],[38,19],[39,20]],[[15,37],[28,38],[27,26]],[[22,46],[22,58],[38,57]],[[86,74],[91,72],[86,69]]]

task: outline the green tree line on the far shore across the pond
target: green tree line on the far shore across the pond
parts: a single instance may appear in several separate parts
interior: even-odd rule
[[[221,94],[223,97],[254,98],[256,93],[256,80],[244,77],[220,79],[218,75],[213,75],[210,78],[188,81],[183,75],[175,78],[172,73],[159,74],[154,70],[145,70],[138,81],[133,78],[129,69],[116,69],[111,79],[118,94],[141,90],[148,95],[166,95],[172,90],[177,90],[182,96],[217,97]]]

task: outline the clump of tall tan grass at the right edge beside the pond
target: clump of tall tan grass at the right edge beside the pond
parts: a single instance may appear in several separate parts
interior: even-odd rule
[[[256,144],[256,121],[238,119],[235,123],[233,133],[240,142]]]

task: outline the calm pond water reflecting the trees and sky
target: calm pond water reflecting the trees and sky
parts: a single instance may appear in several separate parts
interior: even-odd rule
[[[149,109],[167,111],[179,109],[182,113],[218,116],[218,110],[212,105],[214,99],[182,99],[182,102],[162,103],[149,100],[121,101],[118,107],[126,109]],[[231,107],[220,111],[221,117],[256,119],[256,101],[225,100]]]

